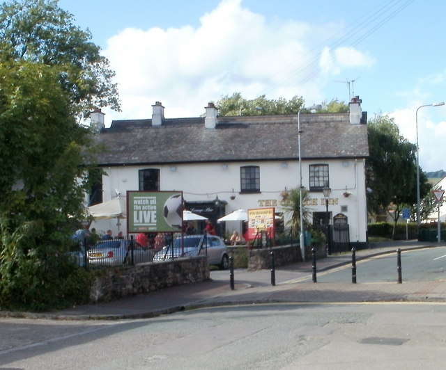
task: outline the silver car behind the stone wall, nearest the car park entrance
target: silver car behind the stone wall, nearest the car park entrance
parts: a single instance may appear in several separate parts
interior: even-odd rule
[[[173,244],[173,247],[172,247]],[[186,235],[178,237],[153,258],[153,262],[166,259],[207,255],[210,265],[219,266],[226,270],[229,266],[229,253],[226,244],[220,236],[213,235]]]

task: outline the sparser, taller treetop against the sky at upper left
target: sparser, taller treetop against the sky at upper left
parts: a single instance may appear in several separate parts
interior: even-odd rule
[[[69,93],[73,113],[86,118],[95,107],[119,110],[114,72],[91,33],[73,23],[57,0],[10,1],[0,5],[0,61],[51,65]]]

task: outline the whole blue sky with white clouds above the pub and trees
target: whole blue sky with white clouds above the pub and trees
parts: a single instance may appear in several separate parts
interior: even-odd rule
[[[208,102],[358,95],[416,143],[422,170],[446,170],[446,1],[59,0],[116,72],[112,120],[203,115]],[[423,106],[423,107],[421,107]],[[421,108],[420,108],[421,107]],[[418,129],[416,129],[418,128]],[[330,138],[328,138],[330,140]],[[397,169],[396,169],[397,170]]]

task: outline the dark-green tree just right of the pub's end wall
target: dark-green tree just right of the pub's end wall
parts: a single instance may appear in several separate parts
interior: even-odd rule
[[[369,211],[388,211],[396,226],[403,207],[417,202],[416,145],[399,133],[388,115],[376,115],[368,124],[369,158],[366,160]],[[429,193],[427,177],[420,170],[420,195]],[[395,230],[395,229],[394,229]]]

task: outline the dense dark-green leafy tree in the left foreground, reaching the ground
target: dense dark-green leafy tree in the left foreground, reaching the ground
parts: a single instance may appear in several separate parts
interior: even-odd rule
[[[0,76],[0,307],[82,301],[86,278],[66,252],[84,212],[89,131],[54,68],[12,61],[0,63]]]

